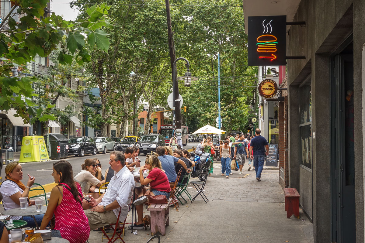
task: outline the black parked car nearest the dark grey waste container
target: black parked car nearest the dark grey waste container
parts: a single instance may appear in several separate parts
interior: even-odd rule
[[[69,139],[69,155],[84,157],[85,154],[96,155],[96,143],[91,137],[73,137]]]

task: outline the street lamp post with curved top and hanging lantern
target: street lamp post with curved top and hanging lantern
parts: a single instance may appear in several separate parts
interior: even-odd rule
[[[189,87],[191,86],[191,81],[195,81],[195,80],[198,80],[198,78],[196,77],[192,77],[191,76],[191,72],[189,72],[190,70],[190,64],[189,64],[189,61],[186,59],[186,58],[177,58],[174,63],[172,64],[172,129],[173,129],[173,135],[174,133],[176,132],[176,129],[181,129],[181,115],[180,117],[178,117],[178,119],[176,119],[176,94],[175,94],[175,91],[176,91],[176,85],[177,85],[177,82],[176,82],[176,62],[178,60],[184,60],[186,63],[187,63],[187,72],[185,72],[185,75],[183,77],[178,77],[179,80],[184,80],[185,83],[184,85]],[[179,95],[179,94],[177,94]],[[180,102],[181,100],[178,99],[179,103],[178,103],[178,108],[180,110]],[[180,136],[177,136],[177,148],[178,149],[181,149],[181,146],[179,144],[179,141],[181,141],[181,135]],[[181,141],[181,144],[183,144],[183,142]]]

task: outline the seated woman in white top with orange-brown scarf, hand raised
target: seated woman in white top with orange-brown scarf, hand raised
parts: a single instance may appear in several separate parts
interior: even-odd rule
[[[28,197],[28,206],[35,205],[34,200],[29,200],[29,190],[34,184],[35,178],[29,176],[27,186],[25,186],[20,180],[23,180],[22,165],[18,162],[11,162],[5,167],[5,181],[1,184],[0,192],[3,194],[4,209],[20,208],[19,197]],[[35,215],[37,224],[41,224],[43,215]],[[21,216],[11,216],[11,219],[21,219]],[[35,227],[34,219],[30,216],[23,217],[26,221],[27,227]]]

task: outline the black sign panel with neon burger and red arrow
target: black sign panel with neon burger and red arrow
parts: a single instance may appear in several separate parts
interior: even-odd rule
[[[248,21],[248,65],[286,65],[287,16],[252,16]]]

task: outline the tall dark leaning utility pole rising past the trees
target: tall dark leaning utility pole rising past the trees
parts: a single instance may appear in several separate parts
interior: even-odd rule
[[[170,1],[169,0],[165,0],[166,3],[166,16],[167,16],[167,34],[168,34],[168,38],[169,38],[169,51],[170,51],[170,62],[171,62],[171,73],[172,75],[175,77],[172,77],[172,80],[175,81],[175,83],[173,84],[175,87],[173,89],[173,101],[175,101],[175,104],[173,104],[173,107],[175,108],[175,111],[172,111],[172,114],[175,114],[175,116],[173,115],[172,117],[172,125],[173,128],[176,127],[176,129],[181,129],[181,110],[180,110],[180,101],[177,102],[175,97],[178,97],[179,99],[179,87],[178,87],[178,83],[177,83],[177,74],[176,74],[176,67],[175,70],[173,70],[173,63],[176,59],[176,55],[175,55],[175,49],[174,49],[174,40],[173,40],[173,34],[172,34],[172,26],[171,26],[171,13],[170,13]],[[175,130],[173,130],[173,134],[175,134]],[[181,149],[181,146],[178,145],[178,149]]]

